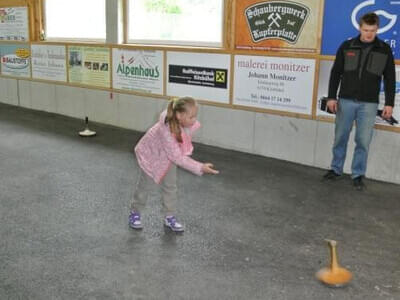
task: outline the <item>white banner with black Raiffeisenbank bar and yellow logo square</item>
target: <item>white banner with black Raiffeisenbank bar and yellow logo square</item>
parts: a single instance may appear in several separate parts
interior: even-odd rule
[[[169,96],[229,103],[230,55],[168,52]]]

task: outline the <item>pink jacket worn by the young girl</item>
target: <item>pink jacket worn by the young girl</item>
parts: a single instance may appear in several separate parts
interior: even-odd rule
[[[179,143],[165,124],[166,111],[162,112],[158,123],[151,127],[135,147],[136,158],[143,171],[160,183],[172,163],[196,175],[202,175],[202,163],[192,159],[192,134],[200,127],[196,123],[182,129],[182,143]]]

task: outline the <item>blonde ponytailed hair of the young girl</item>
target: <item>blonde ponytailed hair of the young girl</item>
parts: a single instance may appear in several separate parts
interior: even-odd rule
[[[169,124],[169,129],[171,133],[175,135],[176,139],[179,143],[182,143],[181,136],[181,126],[179,124],[179,120],[176,117],[176,114],[187,112],[188,107],[196,106],[196,100],[192,97],[181,97],[181,98],[173,98],[168,103],[167,108],[167,116],[165,117],[165,123]]]

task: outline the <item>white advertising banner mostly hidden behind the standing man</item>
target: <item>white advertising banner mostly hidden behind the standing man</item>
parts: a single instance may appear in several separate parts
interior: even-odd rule
[[[318,80],[318,94],[317,94],[317,117],[330,117],[332,119],[335,118],[335,115],[329,113],[325,109],[325,105],[323,104],[323,99],[328,96],[328,88],[329,88],[329,76],[331,72],[331,68],[333,65],[333,61],[321,60],[319,65],[319,80]],[[381,85],[381,92],[379,94],[379,107],[376,116],[376,124],[387,125],[387,126],[396,126],[400,127],[400,65],[396,65],[396,95],[395,95],[395,105],[393,108],[393,118],[391,120],[384,120],[380,117],[380,111],[385,105],[385,91],[383,86],[383,81]],[[321,109],[322,104],[322,109]]]

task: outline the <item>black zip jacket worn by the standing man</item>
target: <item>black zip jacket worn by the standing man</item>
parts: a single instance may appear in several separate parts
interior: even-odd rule
[[[364,63],[361,62],[362,49],[360,36],[339,47],[329,80],[328,98],[336,99],[340,83],[339,97],[378,103],[383,76],[385,105],[393,106],[396,71],[390,46],[375,38]]]

